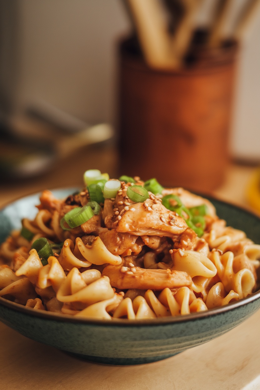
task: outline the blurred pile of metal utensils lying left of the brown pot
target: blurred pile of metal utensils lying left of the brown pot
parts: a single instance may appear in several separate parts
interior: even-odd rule
[[[0,124],[0,178],[27,179],[51,169],[59,159],[67,158],[78,149],[102,143],[113,138],[110,124],[90,126],[69,114],[49,106],[49,114],[42,119],[51,124],[50,131],[42,132],[39,119],[28,121],[7,118]],[[55,115],[54,115],[55,114]],[[59,114],[59,115],[58,115]],[[68,119],[68,120],[66,120]],[[18,123],[20,121],[20,123]],[[21,124],[21,122],[23,122]],[[25,132],[22,129],[25,128]],[[43,130],[46,129],[43,127]]]

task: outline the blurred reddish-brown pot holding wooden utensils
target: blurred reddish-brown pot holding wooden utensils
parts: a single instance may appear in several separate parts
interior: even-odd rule
[[[133,52],[131,40],[120,45],[119,174],[204,192],[223,182],[237,45],[196,57],[160,71]]]

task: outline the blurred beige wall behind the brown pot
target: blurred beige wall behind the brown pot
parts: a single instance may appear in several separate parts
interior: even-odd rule
[[[237,0],[237,4],[243,0]],[[207,25],[212,0],[198,23]],[[89,123],[116,123],[117,42],[131,31],[120,0],[0,0],[0,104],[46,101]],[[242,43],[233,157],[260,160],[260,18]]]

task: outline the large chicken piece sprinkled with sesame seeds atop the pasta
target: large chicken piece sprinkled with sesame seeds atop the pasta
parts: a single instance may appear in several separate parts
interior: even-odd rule
[[[164,207],[157,199],[129,206],[112,225],[120,233],[135,236],[166,236],[176,238],[187,229],[187,224],[174,211]]]

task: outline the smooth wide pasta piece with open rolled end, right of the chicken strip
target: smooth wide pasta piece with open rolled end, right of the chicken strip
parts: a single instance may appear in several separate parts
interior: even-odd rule
[[[195,276],[212,278],[217,273],[217,269],[213,262],[200,252],[179,249],[173,252],[172,257],[172,269],[185,271],[191,275],[191,278]]]

